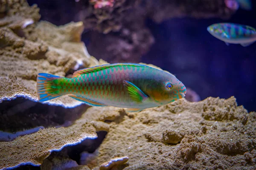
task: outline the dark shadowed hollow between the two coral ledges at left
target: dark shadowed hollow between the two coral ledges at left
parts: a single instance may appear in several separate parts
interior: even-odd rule
[[[84,104],[63,108],[23,97],[3,101],[0,103],[0,141],[11,141],[18,136],[35,133],[40,128],[70,126],[89,107]]]

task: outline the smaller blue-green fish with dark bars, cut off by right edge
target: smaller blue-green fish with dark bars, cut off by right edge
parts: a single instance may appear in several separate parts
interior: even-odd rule
[[[240,44],[247,47],[256,41],[256,29],[236,23],[216,23],[207,27],[212,36],[224,41],[226,45]]]

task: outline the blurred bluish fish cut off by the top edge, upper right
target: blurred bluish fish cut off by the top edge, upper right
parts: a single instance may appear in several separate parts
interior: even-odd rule
[[[224,2],[232,10],[238,10],[239,7],[248,11],[252,9],[251,0],[224,0]]]

